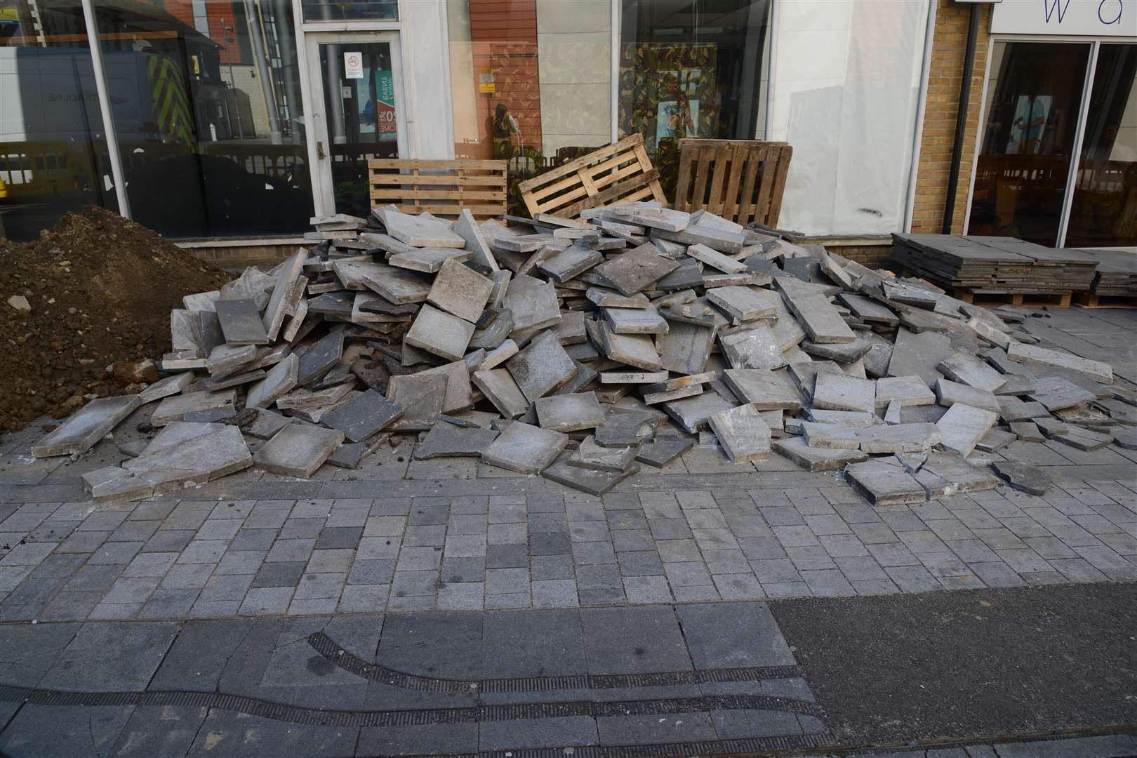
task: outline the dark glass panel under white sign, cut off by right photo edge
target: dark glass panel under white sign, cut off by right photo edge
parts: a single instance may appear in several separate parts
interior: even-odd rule
[[[1065,245],[1137,244],[1137,44],[1103,44]]]

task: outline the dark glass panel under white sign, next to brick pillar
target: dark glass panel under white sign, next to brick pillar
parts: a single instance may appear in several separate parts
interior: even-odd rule
[[[1088,58],[1088,44],[995,43],[969,234],[1057,242]]]

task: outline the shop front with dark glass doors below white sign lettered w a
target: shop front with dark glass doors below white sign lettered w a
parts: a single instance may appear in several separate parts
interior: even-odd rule
[[[1006,0],[990,32],[968,232],[1137,245],[1137,2]]]

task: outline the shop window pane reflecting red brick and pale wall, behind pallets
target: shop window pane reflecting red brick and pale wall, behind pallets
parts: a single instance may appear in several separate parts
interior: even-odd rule
[[[608,0],[448,0],[447,16],[456,157],[507,160],[516,188],[612,141]]]

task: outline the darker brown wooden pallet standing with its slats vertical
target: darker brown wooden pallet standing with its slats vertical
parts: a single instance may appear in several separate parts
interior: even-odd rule
[[[794,148],[757,140],[680,140],[675,209],[777,226]]]

